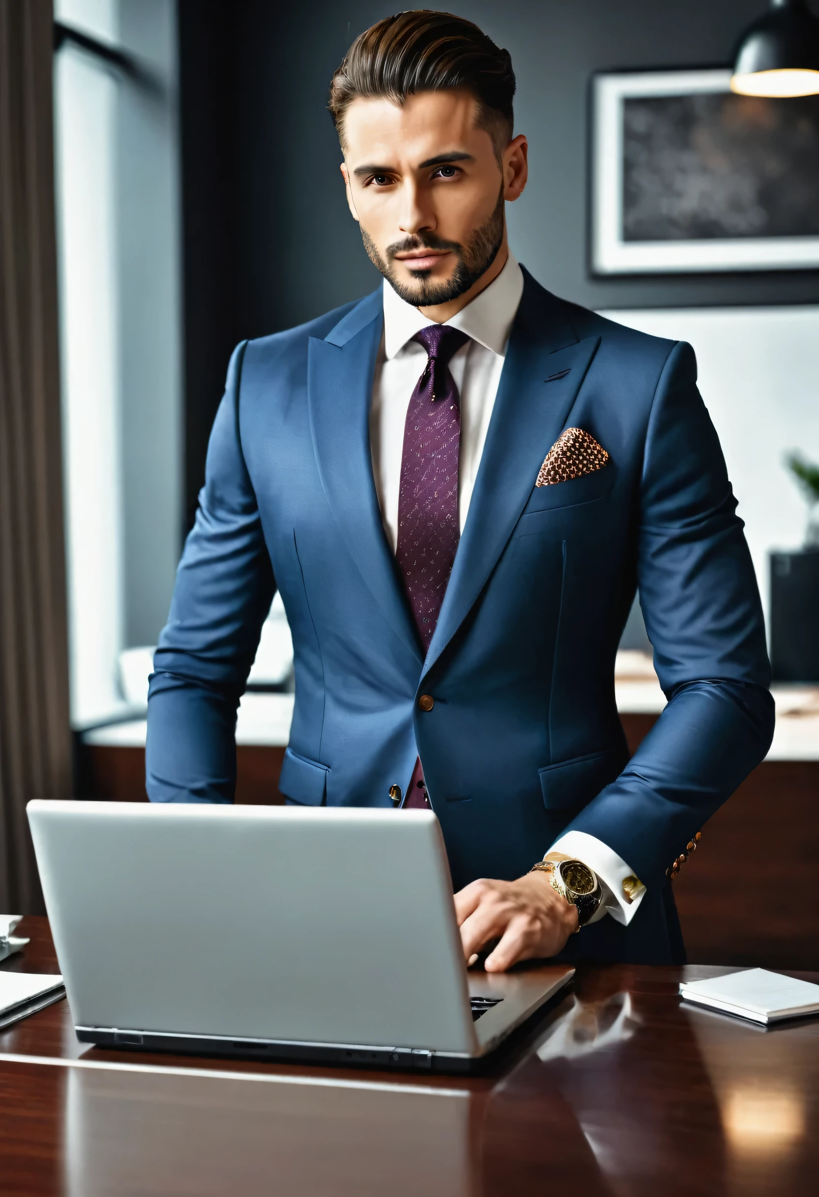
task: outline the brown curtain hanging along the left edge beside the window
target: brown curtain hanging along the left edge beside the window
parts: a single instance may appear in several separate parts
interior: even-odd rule
[[[42,913],[25,806],[72,794],[51,0],[0,0],[0,911]]]

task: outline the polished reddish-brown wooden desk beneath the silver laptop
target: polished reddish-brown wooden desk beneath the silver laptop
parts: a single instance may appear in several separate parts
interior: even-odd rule
[[[0,967],[56,972],[46,919],[22,934]],[[680,1004],[682,976],[721,971],[583,968],[503,1068],[467,1081],[102,1052],[63,1001],[0,1034],[0,1192],[809,1192],[819,1020],[765,1032]]]

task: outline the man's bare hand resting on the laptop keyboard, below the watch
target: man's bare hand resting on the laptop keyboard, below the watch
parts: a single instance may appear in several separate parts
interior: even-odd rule
[[[490,940],[500,941],[486,958],[487,972],[553,956],[577,930],[577,907],[552,889],[546,873],[527,873],[517,881],[473,881],[455,894],[455,917],[466,960]]]

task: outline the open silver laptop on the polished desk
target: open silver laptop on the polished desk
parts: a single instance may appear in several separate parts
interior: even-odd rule
[[[28,812],[85,1043],[469,1071],[574,974],[467,971],[432,812]]]

